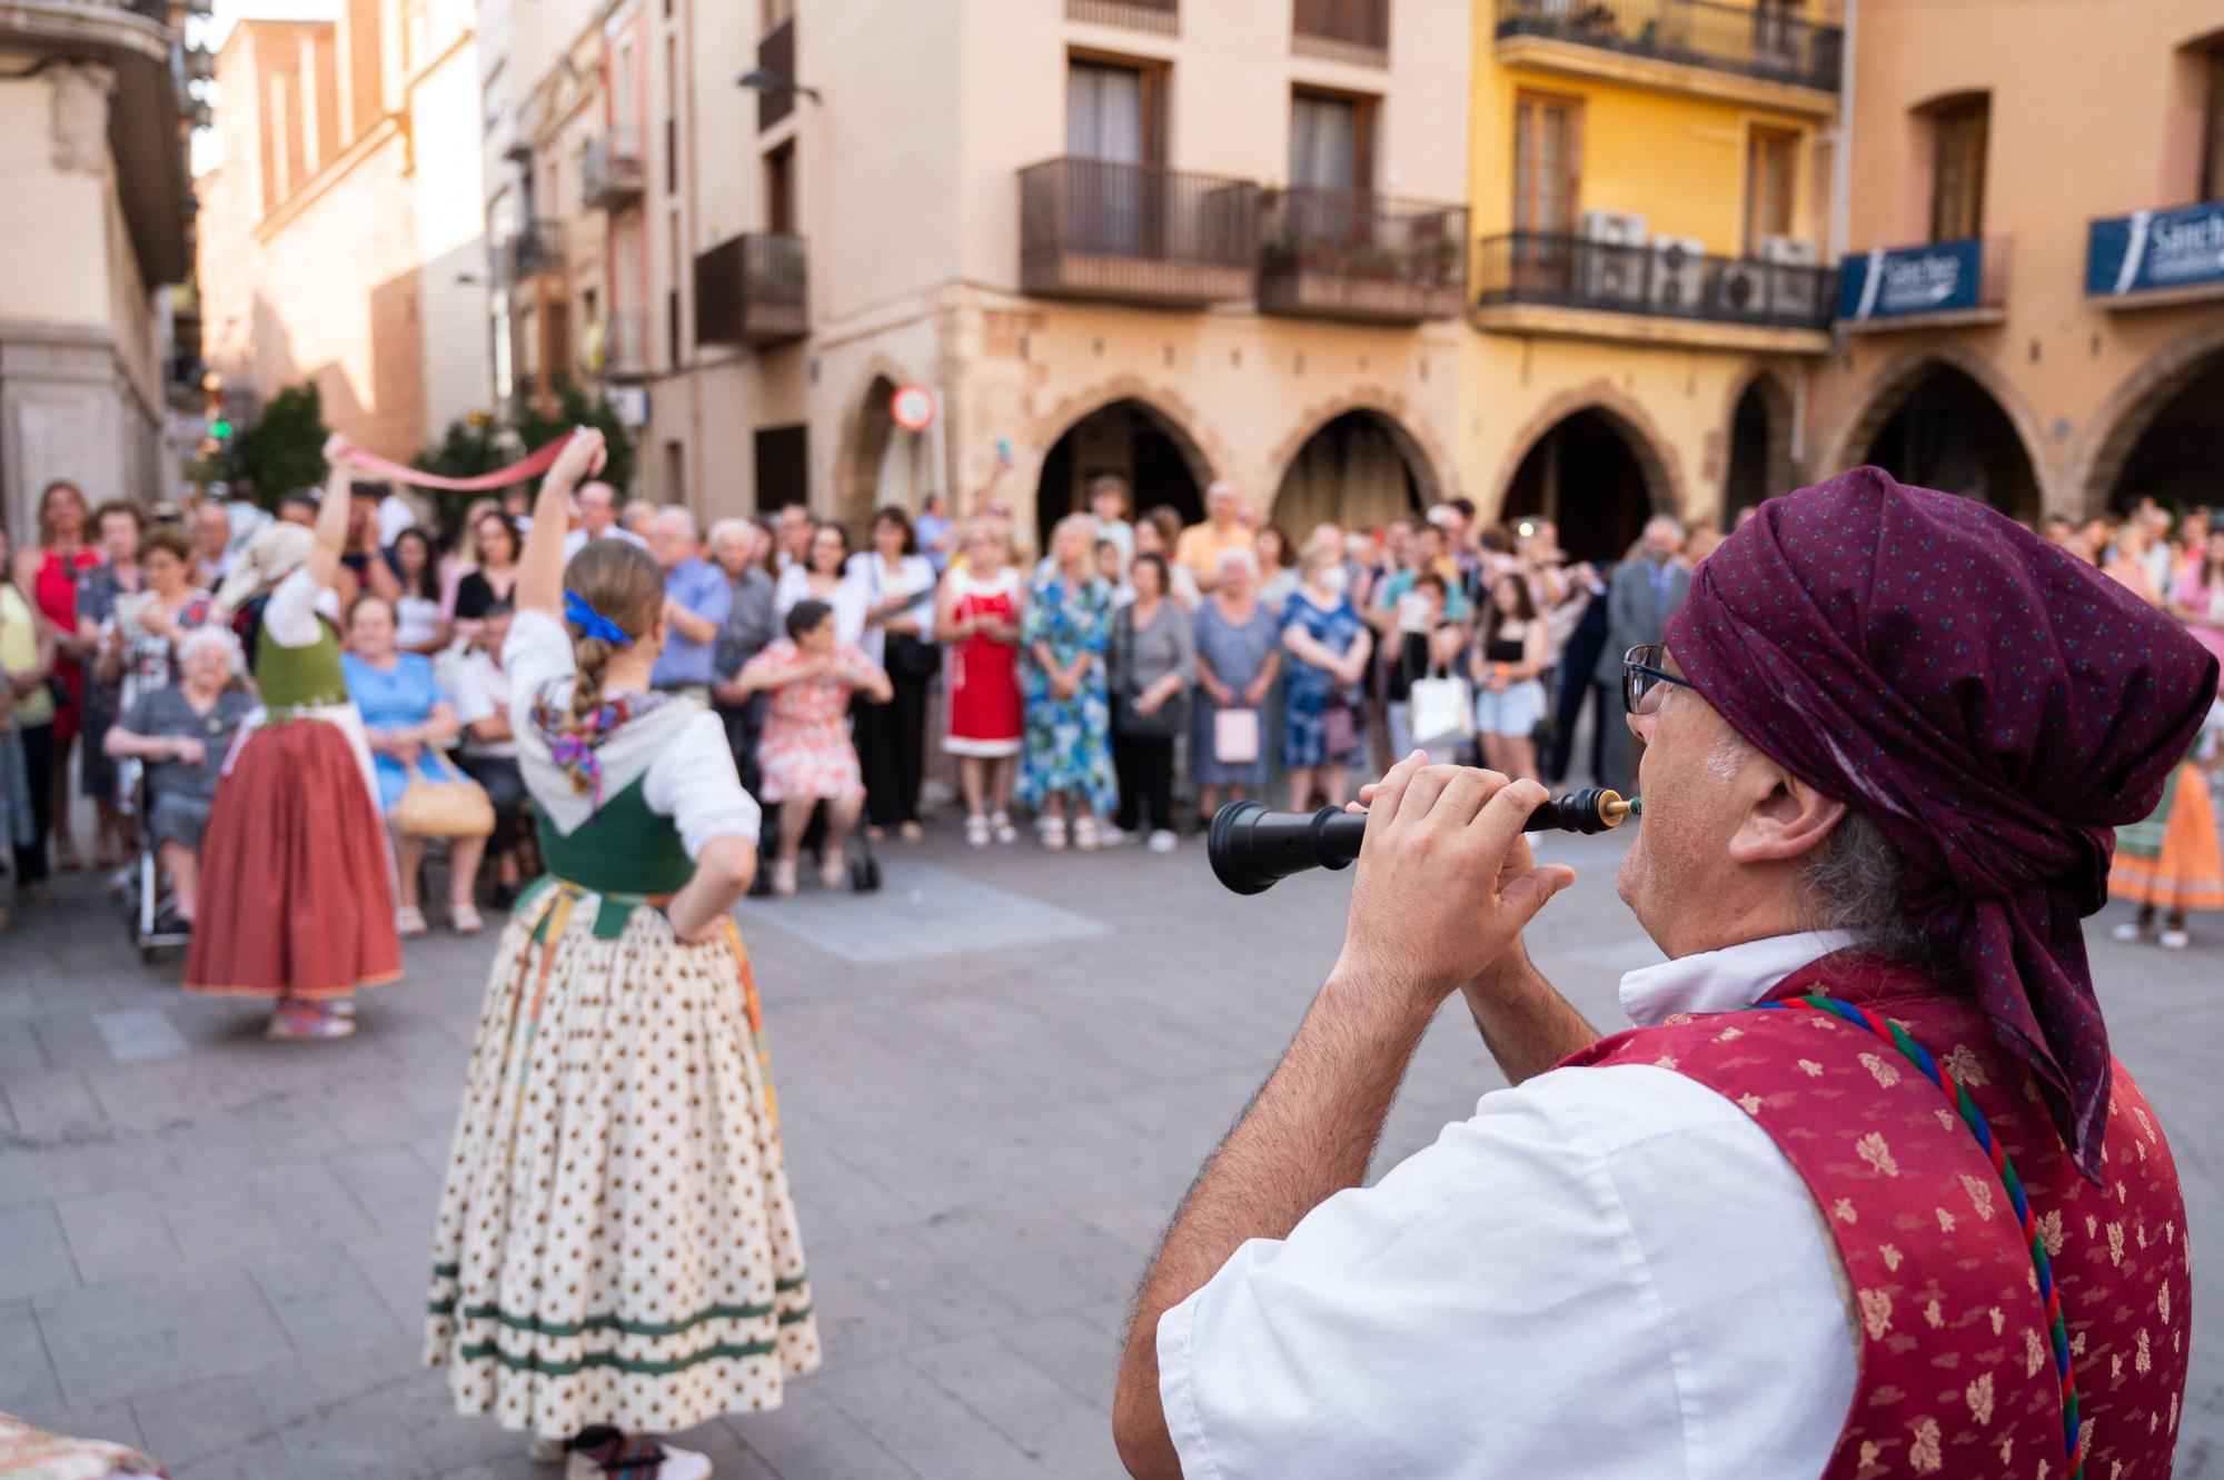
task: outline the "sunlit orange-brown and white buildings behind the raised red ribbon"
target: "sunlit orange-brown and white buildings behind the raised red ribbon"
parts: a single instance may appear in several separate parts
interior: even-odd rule
[[[254,413],[314,380],[325,422],[409,460],[483,411],[480,76],[471,0],[242,20],[200,178],[202,353]]]

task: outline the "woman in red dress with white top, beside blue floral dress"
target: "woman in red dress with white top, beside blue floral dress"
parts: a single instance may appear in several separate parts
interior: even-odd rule
[[[1005,807],[1025,722],[1019,702],[1019,618],[1025,604],[1007,536],[981,522],[965,536],[965,562],[950,567],[936,638],[950,653],[950,733],[965,787],[965,842],[1019,842]]]

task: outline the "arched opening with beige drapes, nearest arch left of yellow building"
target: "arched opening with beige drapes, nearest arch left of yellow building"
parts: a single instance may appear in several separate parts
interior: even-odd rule
[[[1432,456],[1428,433],[1388,396],[1341,396],[1310,409],[1272,453],[1279,467],[1268,518],[1292,542],[1334,522],[1374,529],[1454,496],[1450,467]]]

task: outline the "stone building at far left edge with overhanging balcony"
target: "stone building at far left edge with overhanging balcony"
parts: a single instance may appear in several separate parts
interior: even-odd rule
[[[169,336],[189,264],[185,4],[0,7],[0,518],[38,496],[165,498]]]

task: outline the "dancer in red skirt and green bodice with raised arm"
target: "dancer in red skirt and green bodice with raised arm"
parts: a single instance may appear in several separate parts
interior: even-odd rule
[[[269,524],[216,593],[249,611],[262,720],[216,784],[185,989],[271,998],[271,1038],[345,1038],[356,987],[403,973],[378,782],[340,678],[347,451],[342,436],[325,442],[334,471],[314,531]]]

